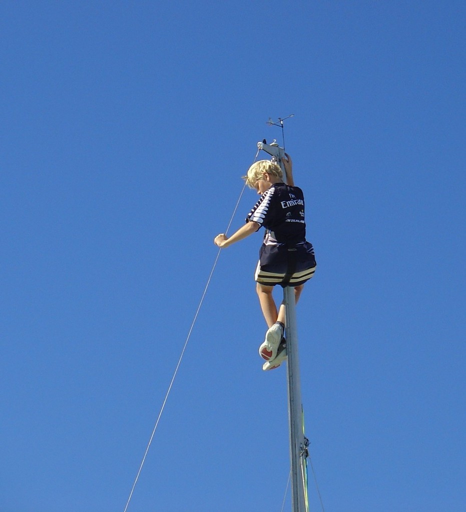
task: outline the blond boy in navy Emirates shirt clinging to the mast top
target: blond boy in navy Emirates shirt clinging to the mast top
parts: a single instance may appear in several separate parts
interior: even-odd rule
[[[302,190],[294,186],[293,166],[289,155],[282,159],[287,184],[279,165],[270,160],[260,160],[251,165],[246,184],[260,194],[246,218],[246,224],[231,237],[218,234],[214,243],[221,248],[249,237],[261,226],[266,228],[264,241],[259,250],[259,262],[255,272],[259,303],[269,327],[266,339],[259,347],[260,356],[266,360],[263,370],[272,370],[286,359],[285,306],[277,310],[272,296],[273,287],[292,286],[298,302],[304,283],[312,278],[316,268],[314,248],[306,241],[304,197]]]

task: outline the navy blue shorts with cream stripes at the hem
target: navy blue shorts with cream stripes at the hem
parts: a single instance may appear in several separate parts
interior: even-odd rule
[[[299,286],[312,278],[316,266],[309,242],[292,247],[262,245],[254,279],[266,286]]]

